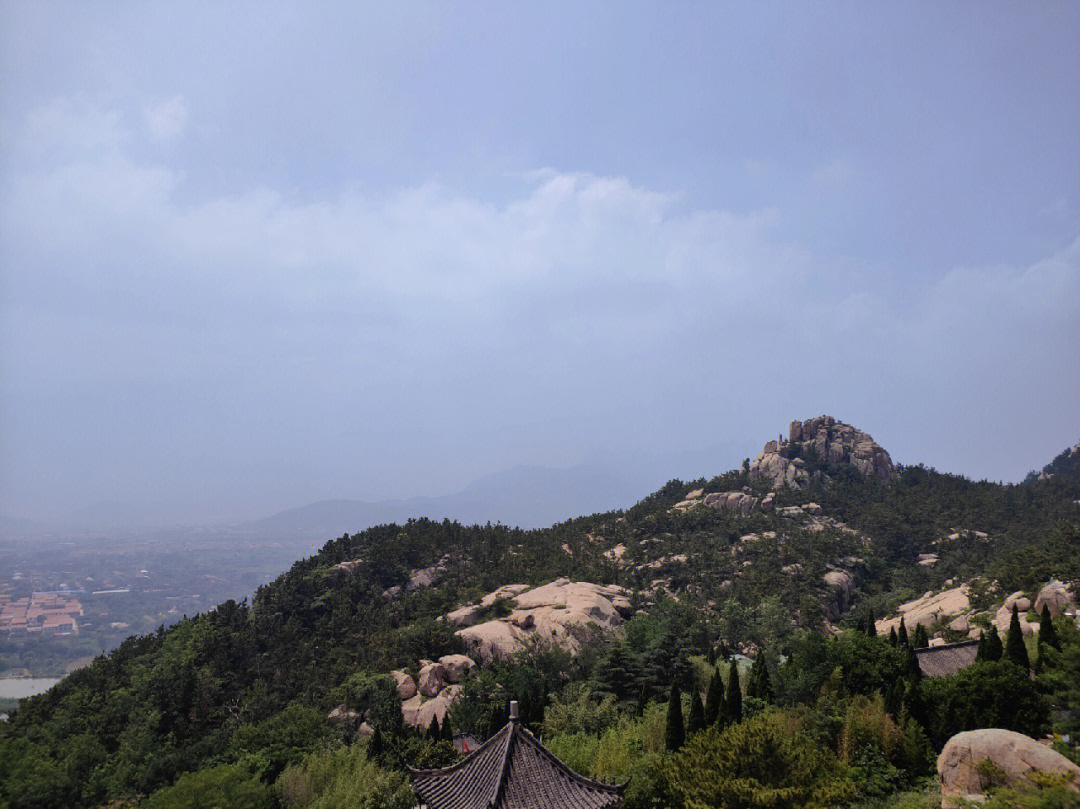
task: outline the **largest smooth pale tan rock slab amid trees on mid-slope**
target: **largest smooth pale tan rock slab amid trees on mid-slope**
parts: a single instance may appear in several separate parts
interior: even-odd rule
[[[531,638],[554,643],[571,653],[581,648],[590,629],[619,626],[631,610],[623,588],[556,579],[529,590],[527,585],[499,588],[481,604],[509,598],[514,610],[507,618],[458,630],[471,655],[487,663],[509,658]]]

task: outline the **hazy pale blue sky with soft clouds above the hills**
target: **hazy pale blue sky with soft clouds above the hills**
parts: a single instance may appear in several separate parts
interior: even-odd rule
[[[1071,2],[0,4],[0,513],[823,413],[1018,480],[1080,441],[1078,41]]]

